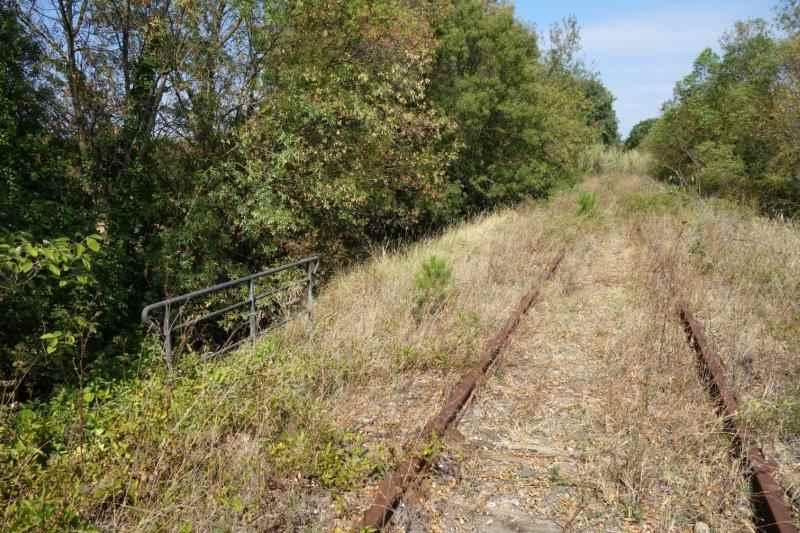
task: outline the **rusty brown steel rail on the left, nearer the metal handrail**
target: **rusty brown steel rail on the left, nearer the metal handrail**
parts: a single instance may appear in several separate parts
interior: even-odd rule
[[[564,253],[562,250],[558,254],[545,272],[542,282],[553,277],[564,259]],[[361,522],[356,526],[357,531],[380,530],[389,522],[403,493],[430,460],[429,455],[423,452],[423,448],[447,431],[450,423],[458,416],[473,391],[478,387],[481,379],[495,363],[500,353],[508,346],[511,334],[517,329],[523,315],[536,302],[540,291],[541,282],[537,283],[523,296],[511,316],[506,320],[503,328],[486,343],[478,365],[464,374],[452,393],[450,393],[444,407],[428,421],[422,430],[422,434],[414,440],[414,443],[406,444],[408,458],[398,465],[391,475],[381,481],[374,502],[364,514]]]

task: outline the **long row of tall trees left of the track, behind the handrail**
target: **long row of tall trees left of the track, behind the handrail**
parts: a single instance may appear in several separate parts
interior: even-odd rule
[[[146,302],[545,195],[617,141],[566,20],[481,0],[0,0],[0,373],[138,357]],[[10,391],[10,393],[9,393]]]

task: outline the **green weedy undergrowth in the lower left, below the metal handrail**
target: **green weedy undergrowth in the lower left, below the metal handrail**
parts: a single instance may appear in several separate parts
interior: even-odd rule
[[[289,348],[270,339],[218,362],[189,356],[172,380],[154,366],[6,409],[0,529],[92,531],[112,513],[135,524],[133,508],[162,510],[153,528],[174,529],[198,491],[235,517],[270,479],[342,491],[382,472],[383,451],[329,414],[336,384],[357,382],[357,362]]]

